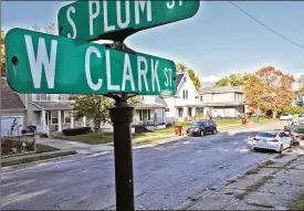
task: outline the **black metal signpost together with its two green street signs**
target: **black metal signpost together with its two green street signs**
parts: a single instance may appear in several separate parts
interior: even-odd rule
[[[176,94],[172,61],[137,53],[124,40],[141,30],[193,17],[198,0],[83,0],[61,8],[60,36],[12,29],[7,75],[19,93],[102,94],[115,101],[116,210],[135,210],[130,123],[136,95]],[[65,36],[65,38],[64,38]],[[112,40],[112,45],[86,41]]]

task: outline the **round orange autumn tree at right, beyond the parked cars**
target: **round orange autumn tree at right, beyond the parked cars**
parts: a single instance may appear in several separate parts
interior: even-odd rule
[[[293,76],[283,74],[273,66],[265,66],[249,75],[245,81],[245,98],[254,108],[276,113],[290,106],[295,93],[292,91]]]

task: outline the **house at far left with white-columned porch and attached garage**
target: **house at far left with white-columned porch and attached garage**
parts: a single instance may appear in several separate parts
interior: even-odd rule
[[[86,124],[85,118],[74,123],[73,105],[66,94],[18,94],[10,88],[7,78],[1,78],[1,84],[2,117],[6,115],[10,122],[18,117],[23,129],[36,126],[39,131],[49,134]],[[1,118],[2,122],[8,119]],[[7,128],[9,123],[4,125]]]

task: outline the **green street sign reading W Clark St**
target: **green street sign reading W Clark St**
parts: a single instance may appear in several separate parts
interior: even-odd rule
[[[6,38],[7,76],[19,93],[176,93],[172,61],[23,29]]]

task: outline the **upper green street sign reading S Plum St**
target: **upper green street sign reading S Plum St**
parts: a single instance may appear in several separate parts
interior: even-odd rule
[[[76,1],[60,9],[59,34],[85,41],[122,41],[140,30],[191,18],[199,6],[199,0]]]

